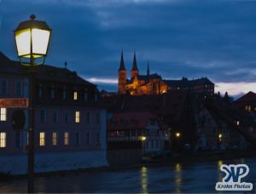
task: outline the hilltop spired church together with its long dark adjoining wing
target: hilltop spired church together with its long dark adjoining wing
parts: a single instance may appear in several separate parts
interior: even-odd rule
[[[164,80],[157,73],[150,74],[149,64],[147,75],[139,74],[137,68],[136,54],[133,56],[131,78],[127,79],[124,55],[121,53],[121,60],[118,71],[118,93],[131,95],[165,94],[168,91],[188,90],[195,94],[212,96],[214,94],[214,83],[207,77],[188,80],[183,77],[181,80]]]

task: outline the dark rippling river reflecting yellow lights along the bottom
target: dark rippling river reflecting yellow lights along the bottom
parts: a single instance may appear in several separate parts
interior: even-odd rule
[[[96,193],[183,193],[216,192],[215,184],[224,173],[221,164],[246,163],[250,172],[243,181],[253,183],[255,192],[256,158],[241,158],[207,163],[173,163],[118,170],[102,170],[47,175],[35,179],[36,192]],[[0,183],[1,192],[26,192],[26,179]]]

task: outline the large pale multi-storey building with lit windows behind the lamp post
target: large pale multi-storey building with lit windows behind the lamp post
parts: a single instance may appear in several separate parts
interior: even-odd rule
[[[27,98],[26,67],[3,54],[0,57],[1,98]],[[102,108],[96,85],[66,68],[44,65],[35,69],[35,171],[107,165],[107,111]],[[28,114],[25,109],[26,126],[17,133],[10,121],[14,110],[1,107],[4,121],[0,121],[0,154],[5,157],[0,158],[3,167],[0,171],[4,169],[13,174],[26,174]],[[12,164],[8,163],[14,154],[19,164],[15,160]],[[18,168],[20,165],[23,168]]]

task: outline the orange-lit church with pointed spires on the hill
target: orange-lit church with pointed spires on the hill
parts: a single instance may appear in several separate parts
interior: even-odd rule
[[[119,94],[143,95],[143,94],[164,94],[168,85],[157,73],[150,74],[149,64],[147,75],[140,75],[137,68],[136,54],[133,56],[131,78],[127,79],[123,51],[119,66]]]

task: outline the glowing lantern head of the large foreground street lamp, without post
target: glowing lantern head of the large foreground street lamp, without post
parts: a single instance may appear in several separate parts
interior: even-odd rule
[[[45,21],[35,18],[32,14],[31,20],[21,22],[15,29],[15,43],[20,58],[37,59],[47,55],[51,29]]]

